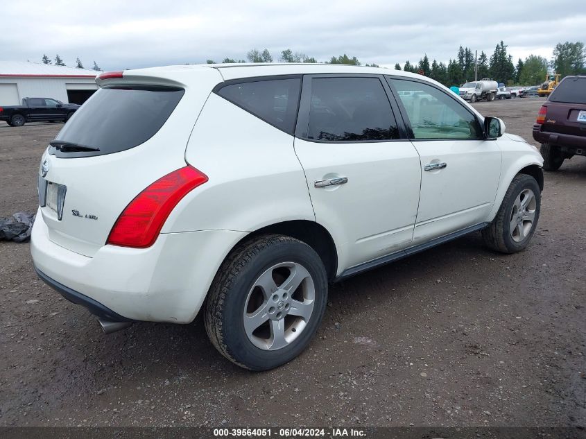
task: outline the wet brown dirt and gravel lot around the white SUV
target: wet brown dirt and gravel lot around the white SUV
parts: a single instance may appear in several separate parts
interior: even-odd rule
[[[542,99],[477,103],[533,143]],[[0,125],[0,216],[34,211],[60,124]],[[245,372],[193,325],[104,336],[0,243],[0,425],[586,425],[586,160],[546,173],[526,252],[479,234],[330,289],[311,347]]]

